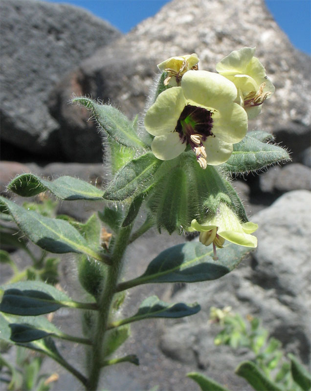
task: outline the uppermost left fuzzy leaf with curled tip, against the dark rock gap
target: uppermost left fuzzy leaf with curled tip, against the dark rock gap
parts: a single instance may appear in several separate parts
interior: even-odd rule
[[[72,102],[90,109],[96,122],[118,144],[132,148],[145,147],[145,144],[138,138],[131,121],[118,109],[109,105],[100,105],[85,97],[74,98]]]

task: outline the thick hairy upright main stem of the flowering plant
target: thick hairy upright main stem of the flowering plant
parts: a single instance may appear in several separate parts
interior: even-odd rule
[[[101,292],[98,301],[99,311],[97,315],[97,325],[93,340],[93,349],[91,353],[91,363],[87,390],[97,390],[99,381],[101,362],[103,360],[103,342],[107,330],[108,318],[110,313],[111,302],[115,293],[115,287],[120,275],[123,254],[128,245],[133,224],[120,228],[115,240],[111,256],[111,266],[108,269],[108,276],[105,286]]]

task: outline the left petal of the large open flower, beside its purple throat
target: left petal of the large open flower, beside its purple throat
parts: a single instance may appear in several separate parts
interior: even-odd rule
[[[146,130],[154,136],[174,131],[186,104],[181,87],[172,87],[161,92],[146,112]]]

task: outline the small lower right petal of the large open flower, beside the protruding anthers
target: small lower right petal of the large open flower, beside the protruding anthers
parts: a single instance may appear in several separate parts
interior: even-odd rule
[[[226,162],[233,151],[233,145],[220,140],[218,137],[209,136],[203,141],[206,152],[206,163],[210,166],[218,166]]]

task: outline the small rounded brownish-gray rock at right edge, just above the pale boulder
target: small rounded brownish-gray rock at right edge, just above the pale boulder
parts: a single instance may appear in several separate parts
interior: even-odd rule
[[[311,190],[311,169],[300,163],[275,166],[260,175],[259,183],[264,193]]]

